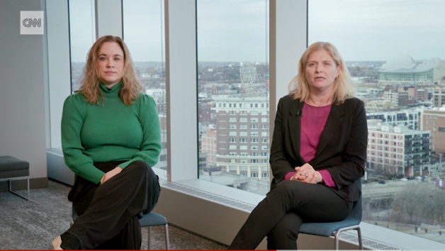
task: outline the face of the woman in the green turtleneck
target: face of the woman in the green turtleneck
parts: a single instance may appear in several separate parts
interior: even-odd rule
[[[103,43],[97,57],[97,75],[100,82],[111,88],[123,76],[123,50],[116,42]]]

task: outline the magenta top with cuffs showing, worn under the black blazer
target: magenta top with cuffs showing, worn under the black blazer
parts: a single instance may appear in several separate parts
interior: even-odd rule
[[[318,141],[327,121],[327,116],[331,111],[331,105],[327,106],[310,106],[303,104],[303,111],[300,116],[300,156],[305,162],[312,160],[317,152]],[[335,186],[331,174],[325,169],[318,170],[320,172],[323,183],[326,186]],[[295,172],[288,172],[283,180],[291,179]]]

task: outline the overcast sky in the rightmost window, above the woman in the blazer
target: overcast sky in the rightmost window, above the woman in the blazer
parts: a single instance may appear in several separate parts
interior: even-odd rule
[[[444,0],[309,0],[309,43],[329,41],[345,60],[445,60]]]

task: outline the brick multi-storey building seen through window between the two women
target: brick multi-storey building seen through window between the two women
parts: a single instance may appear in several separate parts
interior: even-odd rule
[[[215,164],[223,172],[269,179],[269,102],[266,96],[220,95],[213,96],[213,100]]]

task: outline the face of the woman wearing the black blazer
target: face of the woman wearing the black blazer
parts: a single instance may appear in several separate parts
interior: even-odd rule
[[[340,66],[335,65],[334,59],[326,50],[310,53],[305,65],[305,77],[310,91],[332,91],[340,70]]]

